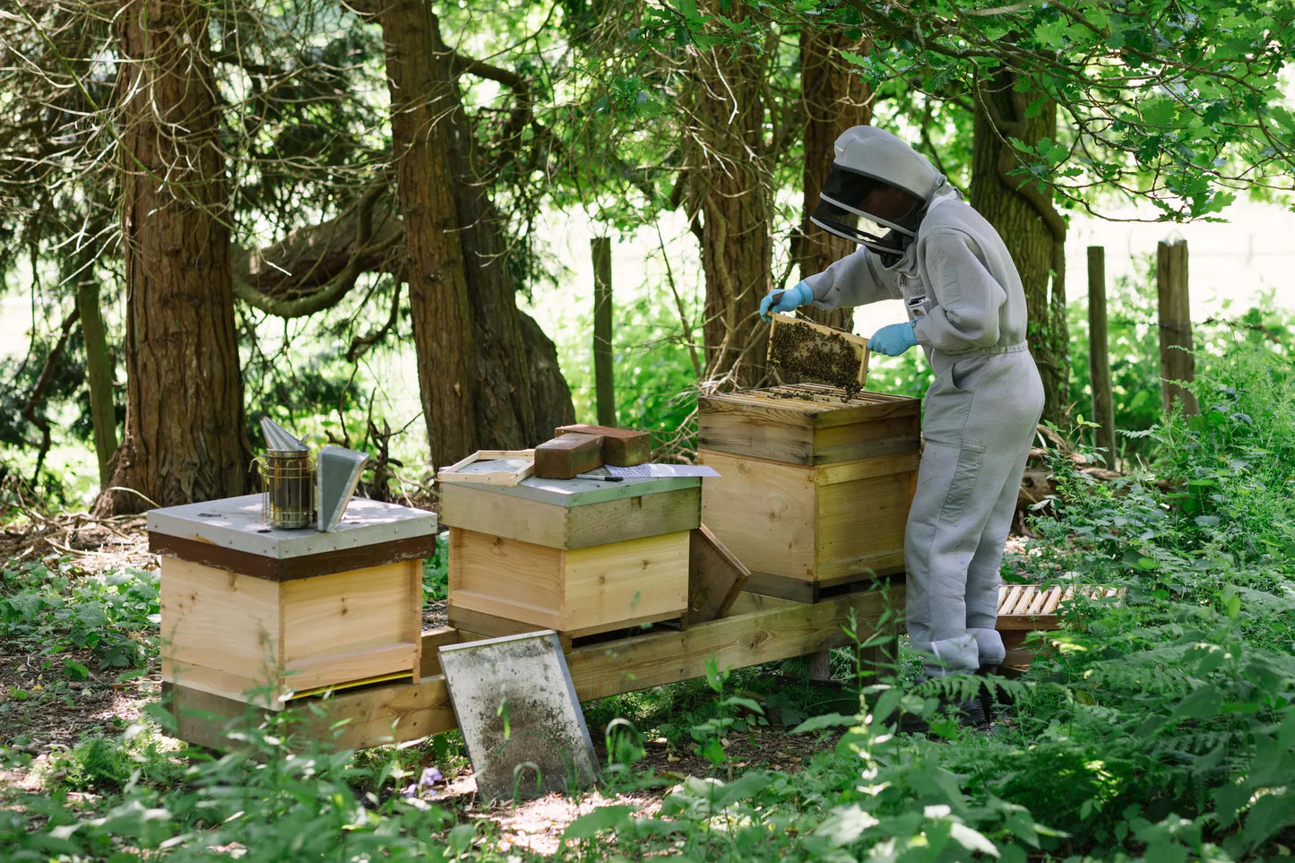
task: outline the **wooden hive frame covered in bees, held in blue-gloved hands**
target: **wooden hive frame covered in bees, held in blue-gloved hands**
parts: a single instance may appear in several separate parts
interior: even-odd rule
[[[831,327],[773,315],[768,363],[785,382],[839,386],[853,398],[868,381],[868,343]]]

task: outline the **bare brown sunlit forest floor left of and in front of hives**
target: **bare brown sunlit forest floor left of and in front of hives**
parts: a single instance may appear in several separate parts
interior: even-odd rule
[[[110,570],[158,568],[157,555],[148,548],[141,516],[111,520],[83,513],[27,516],[0,530],[0,560],[9,570],[23,564],[61,565],[73,578],[83,578]],[[444,625],[444,600],[429,603],[423,626]],[[0,662],[0,755],[9,750],[30,757],[0,758],[0,806],[8,794],[41,793],[47,784],[57,780],[57,768],[52,766],[56,753],[74,749],[92,737],[119,737],[161,698],[162,675],[155,648],[145,652],[145,667],[131,674],[101,669],[89,649],[52,652],[48,645],[31,640],[9,640],[0,644],[0,649],[5,654]],[[67,679],[69,661],[85,670],[84,679]],[[789,678],[787,684],[799,687],[807,698],[818,704],[842,697],[840,688],[831,684],[817,692],[811,692],[811,684],[802,679]],[[548,854],[557,849],[566,825],[596,806],[628,805],[650,815],[685,776],[726,779],[751,767],[795,772],[815,752],[833,745],[835,735],[793,735],[794,724],[773,722],[767,727],[728,732],[723,739],[728,757],[723,768],[698,754],[686,733],[675,735],[673,742],[662,735],[649,735],[644,739],[645,755],[636,763],[635,789],[610,798],[592,792],[579,798],[550,794],[523,803],[484,805],[477,798],[471,768],[462,755],[451,759],[453,768],[444,771],[448,775],[443,780],[420,794],[451,810],[460,820],[488,819],[495,825],[492,834],[501,851],[515,846]],[[601,730],[591,731],[596,754],[605,759]],[[181,749],[180,741],[167,745]],[[426,761],[431,763],[430,753]],[[78,794],[88,805],[93,805],[93,792]]]

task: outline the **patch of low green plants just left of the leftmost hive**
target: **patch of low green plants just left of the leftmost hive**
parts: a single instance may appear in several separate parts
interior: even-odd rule
[[[43,654],[85,650],[100,671],[136,669],[155,652],[159,601],[157,570],[22,564],[0,571],[0,640]],[[65,673],[82,679],[87,670],[67,660]]]

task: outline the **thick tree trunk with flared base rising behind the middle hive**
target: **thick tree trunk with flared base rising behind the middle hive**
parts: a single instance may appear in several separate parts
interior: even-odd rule
[[[534,446],[575,411],[553,342],[517,308],[504,220],[474,171],[451,53],[426,4],[395,0],[379,21],[433,465]]]

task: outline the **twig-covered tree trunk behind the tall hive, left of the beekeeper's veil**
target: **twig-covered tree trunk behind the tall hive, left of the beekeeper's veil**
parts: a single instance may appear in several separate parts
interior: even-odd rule
[[[719,5],[710,0],[698,10],[717,14]],[[745,18],[742,4],[725,6],[729,19]],[[764,140],[769,52],[745,43],[692,51],[684,149],[688,213],[706,277],[707,376],[754,386],[764,376],[768,328],[759,308],[769,292],[773,251],[773,178]]]

